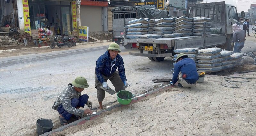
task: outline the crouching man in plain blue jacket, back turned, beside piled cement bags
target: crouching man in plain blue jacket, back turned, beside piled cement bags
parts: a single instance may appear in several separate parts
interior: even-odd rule
[[[194,87],[199,79],[194,60],[188,58],[188,55],[180,53],[176,62],[170,84],[174,85],[178,81],[179,88]]]

